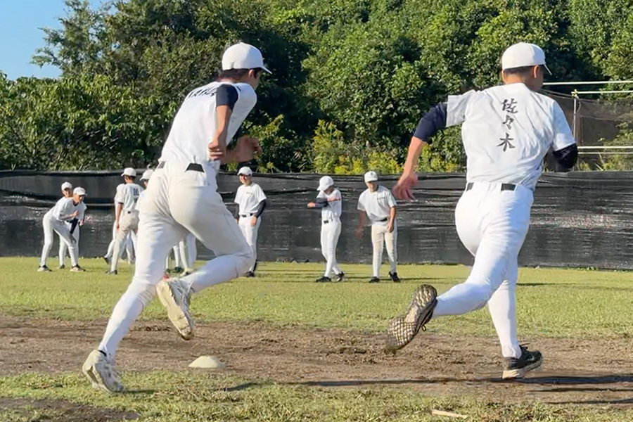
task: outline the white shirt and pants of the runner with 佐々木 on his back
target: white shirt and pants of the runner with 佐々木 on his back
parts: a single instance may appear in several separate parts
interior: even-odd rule
[[[446,124],[460,123],[468,184],[455,220],[475,264],[465,283],[437,298],[433,318],[487,303],[502,354],[518,358],[517,257],[530,226],[533,191],[549,148],[561,151],[575,141],[556,101],[521,83],[450,96]]]

